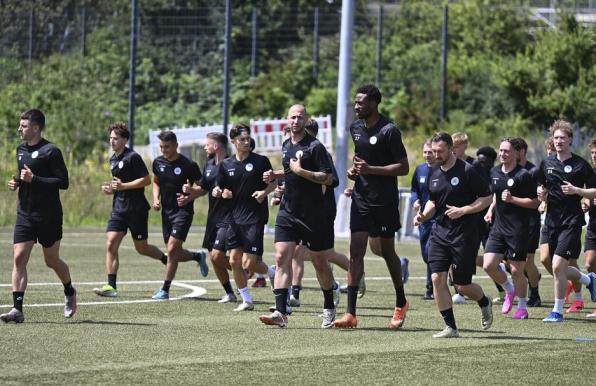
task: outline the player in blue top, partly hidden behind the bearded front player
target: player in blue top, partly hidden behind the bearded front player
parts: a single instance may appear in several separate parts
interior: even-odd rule
[[[422,156],[424,163],[416,166],[414,175],[412,175],[410,202],[414,212],[419,212],[426,205],[429,198],[428,177],[435,163],[435,155],[431,146],[430,139],[424,141],[422,146]],[[432,273],[430,272],[430,265],[428,265],[428,244],[430,241],[430,230],[432,229],[435,220],[433,218],[427,219],[425,222],[418,225],[418,234],[420,237],[420,251],[422,252],[422,260],[426,264],[426,292],[422,299],[433,300],[433,282]]]

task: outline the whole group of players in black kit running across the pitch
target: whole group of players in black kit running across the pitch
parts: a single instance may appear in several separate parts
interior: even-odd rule
[[[343,192],[352,201],[349,260],[334,249],[334,188],[339,182],[338,174],[331,155],[316,139],[316,122],[309,120],[304,105],[293,105],[288,111],[287,137],[281,149],[283,169],[280,170],[273,170],[267,157],[253,152],[250,127],[237,124],[229,132],[235,150],[232,156],[227,156],[228,137],[221,133],[207,135],[208,160],[202,171],[194,161],[179,153],[174,132],[162,132],[159,135],[162,155],[153,161],[151,179],[141,157],[126,147],[130,136],[126,124],[110,125],[112,180],[102,185],[102,191],[113,196],[106,231],[108,283],[95,288],[94,292],[107,297],[118,295],[118,249],[128,229],[140,254],[166,265],[163,285],[153,295],[154,299],[169,298],[180,262],[198,262],[201,274],[207,276],[207,254],[191,252],[183,243],[192,224],[193,201],[208,195],[203,248],[209,251],[213,270],[225,290],[219,302],[237,300],[230,284],[228,271],[232,271],[242,299],[234,310],[253,310],[249,275],[268,275],[275,306],[270,314],[261,315],[259,319],[266,325],[286,327],[291,307],[300,305],[302,262],[310,260],[323,292],[322,327],[355,328],[358,325],[356,302],[364,293],[364,255],[370,244],[373,252],[383,257],[389,270],[395,289],[389,328],[399,329],[406,319],[409,302],[404,291],[407,274],[402,268],[404,263],[407,268],[407,261],[400,259],[395,251],[395,232],[401,227],[397,177],[408,174],[409,163],[401,132],[379,113],[380,102],[381,93],[375,86],[362,86],[356,92],[358,119],[350,127],[355,155],[353,165],[347,170],[354,186]],[[47,265],[64,284],[64,316],[70,318],[76,312],[76,291],[68,266],[59,258],[62,237],[59,189],[68,187],[68,172],[60,150],[42,138],[44,126],[45,117],[39,110],[29,110],[21,116],[19,133],[24,143],[17,149],[19,176],[13,176],[8,182],[9,189],[19,190],[19,205],[14,232],[14,306],[0,315],[5,322],[24,321],[26,265],[37,241],[42,245]],[[412,202],[417,210],[414,222],[419,226],[422,255],[428,263],[424,298],[435,299],[446,324],[434,337],[459,336],[449,281],[455,285],[456,295],[478,302],[481,327],[491,326],[492,301],[479,285],[472,283],[476,264],[484,266],[503,288],[503,313],[510,312],[517,297],[514,318],[528,317],[526,275],[536,295],[539,280],[531,257],[536,247],[528,243],[538,237],[540,218],[536,208],[539,201],[547,202],[542,244],[547,244],[547,253],[552,258],[552,265],[547,268],[555,277],[556,287],[555,307],[545,321],[563,320],[567,280],[571,280],[572,285],[586,285],[592,300],[596,301],[596,275],[582,274],[576,268],[583,209],[590,208],[586,250],[591,254],[586,252],[586,255],[588,269],[596,271],[596,175],[585,160],[570,152],[569,124],[555,122],[551,134],[555,154],[535,168],[525,160],[527,145],[521,139],[503,139],[499,147],[501,165],[495,168],[492,168],[496,158],[494,150],[482,148],[477,160],[466,162],[460,159],[464,157],[465,146],[461,150],[462,143],[454,143],[447,133],[437,133],[424,144],[426,162],[414,173]],[[596,163],[596,142],[593,141],[591,149]],[[149,205],[144,188],[151,183],[153,202]],[[274,193],[273,201],[279,205],[279,211],[275,221],[275,265],[268,267],[262,255],[270,193]],[[582,202],[582,196],[590,201]],[[147,242],[151,207],[161,210],[167,254]],[[484,215],[479,214],[482,211]],[[477,255],[485,221],[492,226],[485,236],[482,259]],[[513,282],[499,268],[504,260]],[[348,270],[347,311],[339,319],[336,319],[339,286],[329,265],[331,261]],[[581,296],[581,285],[578,291]]]

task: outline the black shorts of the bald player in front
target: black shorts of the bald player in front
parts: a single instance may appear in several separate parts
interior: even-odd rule
[[[325,218],[318,223],[306,224],[280,209],[275,220],[275,242],[302,242],[313,252],[331,249],[335,242],[333,219]]]

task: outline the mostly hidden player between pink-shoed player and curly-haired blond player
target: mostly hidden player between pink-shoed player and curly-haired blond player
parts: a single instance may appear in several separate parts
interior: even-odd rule
[[[537,170],[536,165],[528,161],[528,158],[526,157],[528,144],[523,138],[519,137],[513,140],[513,146],[518,153],[517,163],[530,172],[530,175],[532,175],[532,178],[534,178],[534,185],[537,185],[535,179],[535,173]],[[530,210],[530,214],[530,236],[528,238],[528,255],[526,257],[526,276],[528,277],[530,291],[530,296],[528,297],[528,307],[540,307],[542,305],[542,301],[540,299],[538,286],[541,275],[538,272],[536,264],[534,263],[534,255],[536,253],[536,249],[538,249],[538,242],[540,240],[541,219],[538,209]]]

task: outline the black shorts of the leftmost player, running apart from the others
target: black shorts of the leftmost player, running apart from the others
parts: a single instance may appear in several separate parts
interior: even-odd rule
[[[35,241],[44,248],[49,248],[59,240],[62,240],[62,213],[45,218],[17,213],[13,233],[14,244]]]

